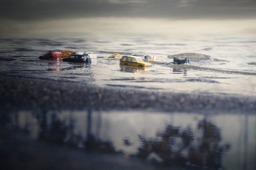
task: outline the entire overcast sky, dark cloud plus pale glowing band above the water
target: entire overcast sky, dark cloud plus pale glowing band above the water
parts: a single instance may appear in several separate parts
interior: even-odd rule
[[[70,32],[256,35],[256,0],[1,0],[0,7],[1,37]]]

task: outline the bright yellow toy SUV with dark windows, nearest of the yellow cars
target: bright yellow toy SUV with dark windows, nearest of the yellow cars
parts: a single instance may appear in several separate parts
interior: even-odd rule
[[[132,55],[123,55],[123,57],[120,59],[120,64],[139,67],[151,66],[150,63],[144,62],[142,58]]]

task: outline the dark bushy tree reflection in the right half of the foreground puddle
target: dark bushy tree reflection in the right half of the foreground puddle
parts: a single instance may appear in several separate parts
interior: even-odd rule
[[[197,130],[201,133],[193,133],[190,127],[181,130],[167,125],[156,138],[146,139],[139,135],[141,146],[135,156],[164,166],[220,168],[222,155],[230,149],[230,144],[220,145],[220,129],[206,119],[198,122]],[[157,155],[158,159],[152,155]]]

